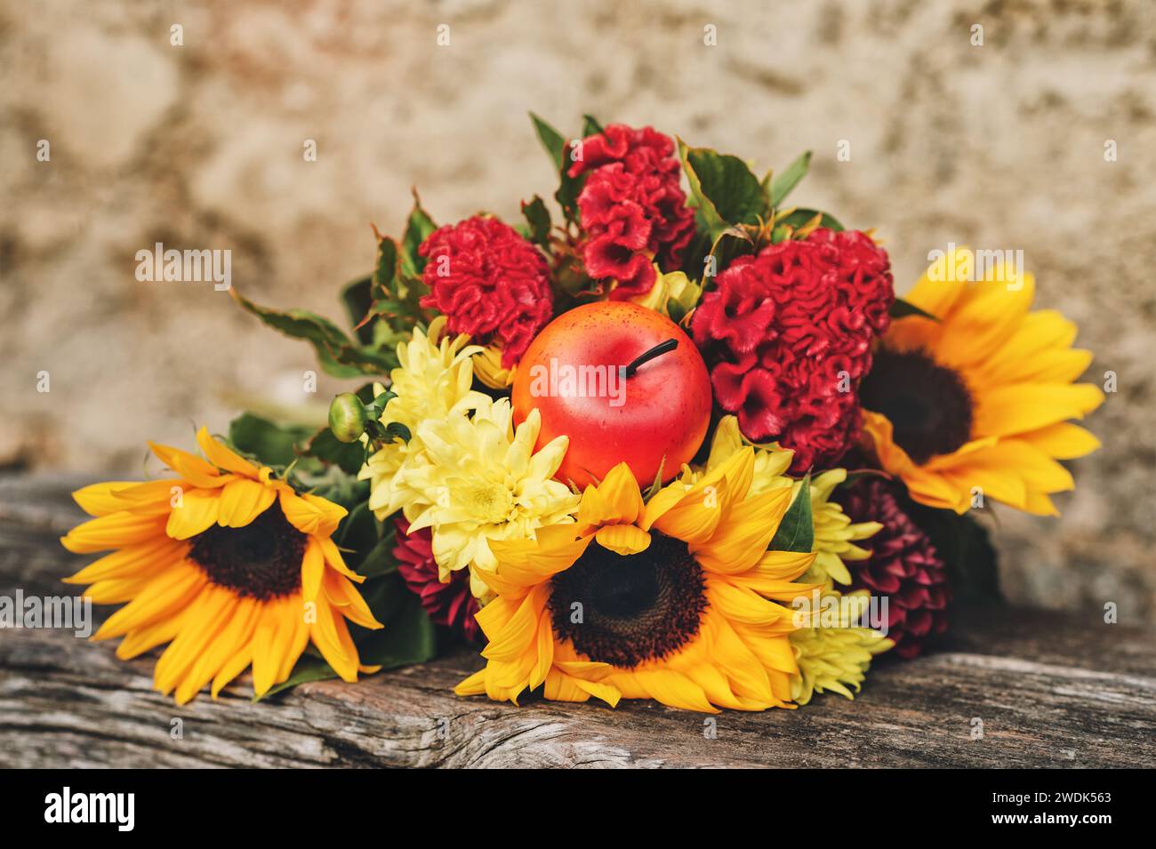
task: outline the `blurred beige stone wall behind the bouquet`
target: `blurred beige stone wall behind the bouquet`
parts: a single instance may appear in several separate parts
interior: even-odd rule
[[[146,438],[243,404],[324,415],[342,386],[304,392],[307,345],[212,284],[138,282],[135,252],[230,248],[246,296],[339,318],[410,186],[440,222],[512,218],[555,187],[527,110],[564,132],[588,111],[759,172],[813,149],[795,199],[877,228],[901,291],[949,241],[1023,250],[1119,392],[1062,520],[999,511],[1006,590],[1156,620],[1150,0],[2,0],[0,80],[6,470],[139,475]]]

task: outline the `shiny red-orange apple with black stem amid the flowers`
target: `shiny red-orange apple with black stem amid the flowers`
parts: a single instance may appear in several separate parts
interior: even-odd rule
[[[645,355],[645,356],[644,356]],[[643,487],[669,481],[698,450],[711,382],[695,343],[638,304],[586,304],[547,325],[518,363],[514,419],[538,409],[538,447],[570,438],[557,478],[579,486],[625,461]]]

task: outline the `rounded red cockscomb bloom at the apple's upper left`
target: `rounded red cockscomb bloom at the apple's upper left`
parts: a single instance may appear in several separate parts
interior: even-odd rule
[[[430,233],[421,304],[449,316],[450,333],[479,344],[499,341],[502,366],[518,364],[554,314],[546,258],[497,218],[475,216]]]

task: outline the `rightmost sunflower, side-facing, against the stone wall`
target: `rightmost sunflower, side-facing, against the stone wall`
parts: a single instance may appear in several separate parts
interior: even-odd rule
[[[906,297],[934,318],[897,319],[875,351],[860,387],[866,444],[921,504],[965,513],[984,496],[1057,515],[1051,493],[1074,485],[1057,460],[1099,447],[1067,420],[1104,400],[1073,383],[1091,353],[1070,347],[1073,322],[1030,310],[1030,274],[988,265],[969,282],[975,262],[947,254]]]

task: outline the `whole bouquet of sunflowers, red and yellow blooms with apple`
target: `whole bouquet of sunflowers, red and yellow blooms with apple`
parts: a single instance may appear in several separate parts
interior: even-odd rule
[[[990,501],[1055,514],[1103,395],[1017,263],[953,247],[901,300],[869,230],[787,203],[809,155],[759,179],[533,122],[556,206],[438,226],[415,193],[341,290],[350,329],[234,292],[361,380],[328,427],[246,414],[153,445],[169,476],[75,493],[64,545],[111,553],[67,580],[124,604],[94,635],[118,656],[166,645],[161,692],[467,645],[462,697],[852,698],[993,591]]]

